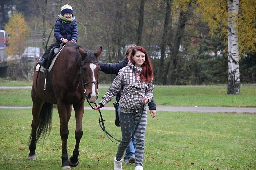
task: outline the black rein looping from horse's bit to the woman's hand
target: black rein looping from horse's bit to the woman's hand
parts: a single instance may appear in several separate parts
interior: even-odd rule
[[[94,107],[92,107],[92,105],[90,103],[92,102],[89,102],[88,98],[87,98],[87,95],[86,95],[86,90],[84,89],[84,95],[86,97],[86,100],[87,100],[87,103],[91,106],[91,108],[94,110]],[[97,106],[97,104],[95,102],[93,102],[95,106]],[[140,108],[140,117],[138,119],[138,122],[136,124],[136,127],[134,129],[134,132],[132,133],[132,136],[127,140],[127,141],[122,141],[122,140],[118,140],[116,138],[114,138],[110,133],[108,133],[108,131],[106,131],[106,128],[105,128],[105,125],[104,125],[104,121],[106,120],[103,120],[102,118],[102,114],[101,114],[101,111],[99,110],[99,113],[100,113],[100,116],[99,116],[99,125],[100,125],[100,128],[105,132],[105,134],[107,135],[107,137],[109,138],[109,140],[111,140],[113,143],[115,144],[118,144],[118,145],[121,145],[121,144],[125,144],[125,143],[128,143],[131,141],[132,137],[135,135],[137,129],[138,129],[138,125],[140,123],[140,119],[142,117],[142,114],[143,114],[143,110],[144,110],[144,107],[145,107],[145,101],[142,101],[141,103],[141,108]],[[111,138],[113,138],[114,140],[116,140],[117,142],[119,143],[116,143],[114,140],[112,140]]]

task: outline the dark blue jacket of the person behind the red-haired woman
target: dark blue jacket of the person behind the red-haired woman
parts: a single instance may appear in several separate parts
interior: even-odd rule
[[[119,70],[128,64],[128,59],[125,57],[123,61],[119,61],[117,63],[104,63],[99,61],[100,64],[100,71],[103,71],[106,74],[118,74]],[[118,102],[120,99],[120,92],[116,95],[116,101]],[[156,103],[154,99],[148,102],[149,110],[156,110]]]

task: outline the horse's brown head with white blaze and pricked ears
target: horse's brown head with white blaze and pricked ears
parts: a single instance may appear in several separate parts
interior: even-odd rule
[[[101,54],[102,47],[94,54],[90,51],[84,51],[79,46],[78,50],[82,56],[80,66],[82,85],[84,86],[89,102],[95,102],[98,98],[98,78],[100,72],[98,57]]]

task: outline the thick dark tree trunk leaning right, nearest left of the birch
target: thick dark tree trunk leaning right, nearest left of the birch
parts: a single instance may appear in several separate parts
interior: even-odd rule
[[[187,20],[189,18],[190,10],[191,10],[191,3],[188,3],[186,11],[184,11],[184,10],[180,11],[178,27],[177,27],[177,30],[176,30],[176,34],[175,34],[175,39],[174,39],[174,43],[173,43],[173,46],[172,46],[172,50],[170,52],[171,53],[170,61],[168,62],[167,68],[165,70],[164,79],[163,79],[163,85],[166,85],[170,81],[172,83],[176,82],[176,78],[174,80],[174,77],[176,77],[174,75],[174,71],[175,71],[175,68],[176,68],[176,65],[177,65],[176,57],[177,57],[177,54],[179,52],[181,38],[183,36],[183,31],[185,29],[186,22],[187,22]]]

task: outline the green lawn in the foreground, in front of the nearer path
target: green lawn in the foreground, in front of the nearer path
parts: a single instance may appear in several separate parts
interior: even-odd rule
[[[113,111],[102,111],[106,128],[120,139]],[[80,163],[75,169],[113,169],[117,145],[98,125],[98,112],[85,110]],[[28,161],[31,109],[0,109],[0,169],[60,169],[61,138],[57,110],[53,110],[50,135],[40,140],[36,161]],[[256,116],[252,114],[209,114],[158,111],[148,113],[144,169],[255,169]],[[74,110],[69,123],[68,153],[75,146]],[[133,170],[133,165],[123,169]]]

